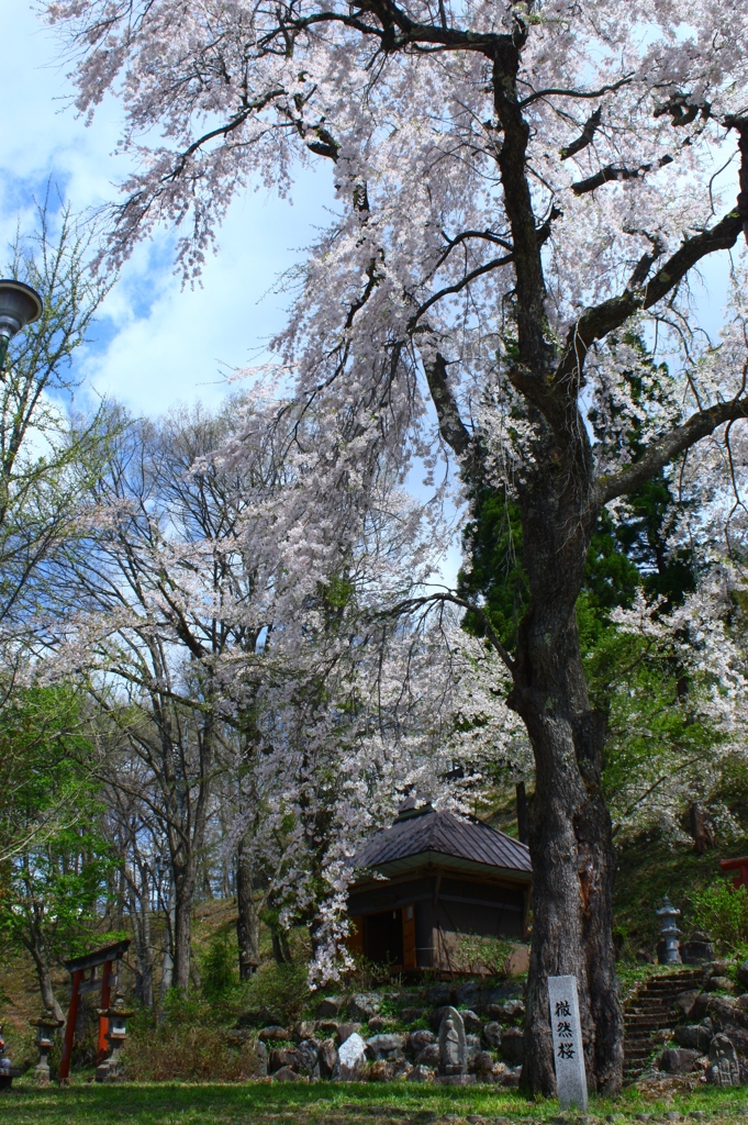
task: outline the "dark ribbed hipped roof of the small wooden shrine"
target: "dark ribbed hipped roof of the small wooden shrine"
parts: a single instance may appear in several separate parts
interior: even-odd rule
[[[391,875],[421,863],[506,874],[529,882],[530,849],[475,817],[406,802],[389,828],[376,832],[354,857],[358,871]]]

